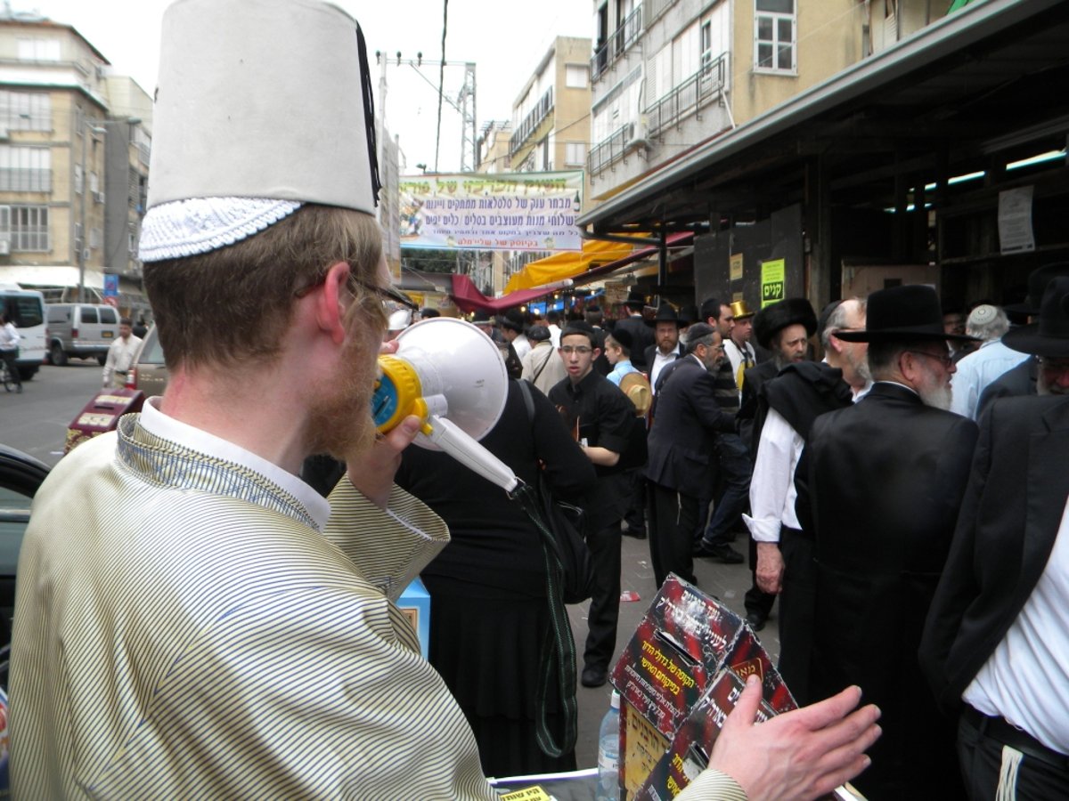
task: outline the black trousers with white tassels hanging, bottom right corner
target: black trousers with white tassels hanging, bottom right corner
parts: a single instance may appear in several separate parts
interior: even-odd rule
[[[1059,713],[1062,710],[1059,710]],[[978,717],[974,712],[973,717]],[[982,724],[981,724],[981,727]],[[994,801],[1002,772],[1003,745],[1021,745],[1019,737],[1031,739],[1023,732],[1014,733],[1017,742],[1003,742],[997,732],[977,725],[963,716],[958,723],[958,760],[961,775],[965,781],[965,791],[972,801]],[[1021,750],[1018,748],[1018,750]],[[1018,801],[1048,801],[1048,799],[1069,798],[1069,757],[1048,752],[1040,743],[1035,743],[1035,754],[1025,753],[1017,767],[1014,795]],[[1047,753],[1043,753],[1047,752]],[[1058,764],[1060,761],[1060,764]]]

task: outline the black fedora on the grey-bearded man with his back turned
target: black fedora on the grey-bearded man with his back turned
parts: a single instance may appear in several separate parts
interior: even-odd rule
[[[977,341],[975,336],[946,332],[939,295],[924,284],[877,289],[868,297],[865,330],[839,331],[835,335],[845,342]]]

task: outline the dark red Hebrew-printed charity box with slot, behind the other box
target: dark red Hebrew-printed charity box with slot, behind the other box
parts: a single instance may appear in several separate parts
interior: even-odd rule
[[[797,707],[746,622],[693,584],[669,576],[610,676],[622,701],[620,779],[626,798],[647,782],[726,668],[741,681],[750,673],[761,677],[768,713]]]

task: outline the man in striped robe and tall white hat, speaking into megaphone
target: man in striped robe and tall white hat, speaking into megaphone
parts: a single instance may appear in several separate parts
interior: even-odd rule
[[[371,446],[391,290],[359,28],[313,0],[180,0],[159,76],[141,257],[171,380],[35,499],[12,795],[489,801],[393,602],[448,532],[392,483],[419,421]],[[297,478],[323,452],[347,464],[329,500]],[[707,771],[692,797],[863,767],[856,690],[772,728],[755,694],[714,756],[738,784]],[[761,771],[755,740],[827,755]]]

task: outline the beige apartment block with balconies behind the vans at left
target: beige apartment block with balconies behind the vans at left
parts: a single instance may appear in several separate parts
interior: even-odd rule
[[[151,117],[152,98],[76,29],[0,17],[0,281],[96,301],[109,273],[124,311],[148,309]]]

